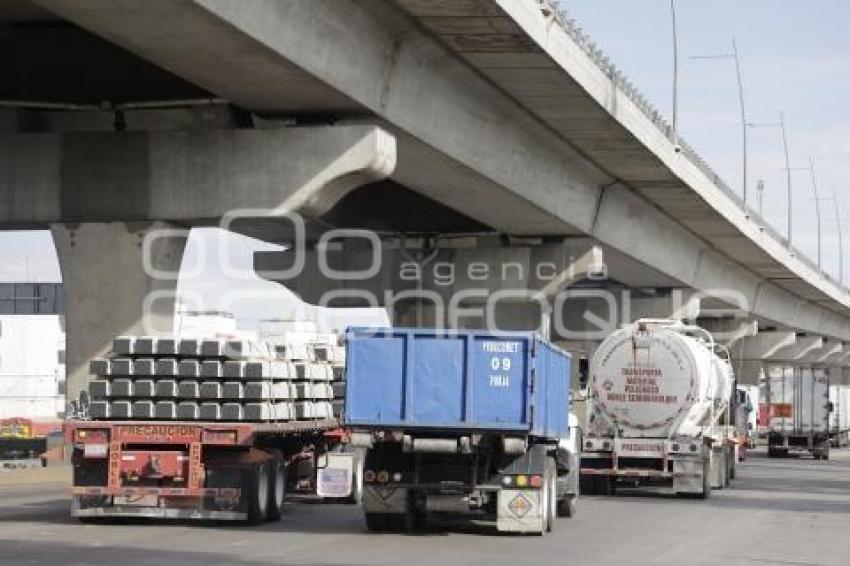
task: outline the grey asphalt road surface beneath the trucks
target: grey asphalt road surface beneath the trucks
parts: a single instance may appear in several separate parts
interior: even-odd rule
[[[359,508],[292,504],[262,527],[83,525],[66,487],[0,473],[0,564],[675,564],[850,563],[850,452],[832,460],[756,454],[708,501],[653,494],[585,497],[578,517],[545,537],[455,528],[372,535]]]

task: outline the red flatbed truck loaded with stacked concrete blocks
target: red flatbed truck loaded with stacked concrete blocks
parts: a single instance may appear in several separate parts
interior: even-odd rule
[[[65,427],[72,516],[261,523],[295,490],[359,499],[332,340],[116,338]]]

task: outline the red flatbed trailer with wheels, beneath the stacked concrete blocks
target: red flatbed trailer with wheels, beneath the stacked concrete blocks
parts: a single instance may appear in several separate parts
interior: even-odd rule
[[[358,458],[337,419],[69,421],[71,515],[278,520],[290,490],[357,498]]]

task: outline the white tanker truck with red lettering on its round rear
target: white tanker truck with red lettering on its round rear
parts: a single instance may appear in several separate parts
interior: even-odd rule
[[[606,338],[590,363],[582,492],[672,487],[708,497],[735,476],[734,376],[706,330],[642,319]]]

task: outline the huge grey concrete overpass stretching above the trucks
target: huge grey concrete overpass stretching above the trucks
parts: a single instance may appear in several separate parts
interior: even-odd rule
[[[640,289],[653,312],[671,289],[733,291],[757,327],[850,340],[847,291],[744,210],[547,4],[14,0],[3,10],[11,32],[0,42],[21,62],[0,93],[0,226],[54,232],[76,381],[109,336],[138,328],[145,296],[173,289],[139,268],[144,234],[246,208],[265,212],[234,229],[270,241],[292,234],[269,217],[297,210],[310,234],[371,228],[402,248],[475,235],[480,261],[467,264],[549,254],[564,269],[599,250],[609,283]],[[67,61],[26,50],[57,37]],[[80,53],[84,88],[65,76]],[[176,268],[180,237],[158,246],[155,259]],[[286,261],[257,260],[260,271]],[[120,287],[104,285],[116,265]],[[303,273],[282,282],[307,298],[339,285]],[[92,305],[113,306],[111,318]],[[167,327],[171,305],[158,305]]]

